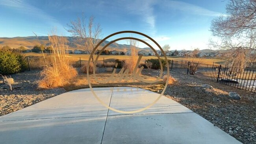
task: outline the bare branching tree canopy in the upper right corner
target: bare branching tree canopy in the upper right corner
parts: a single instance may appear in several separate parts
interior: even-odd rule
[[[226,15],[211,23],[213,36],[210,45],[221,49],[256,49],[256,0],[229,0]]]

